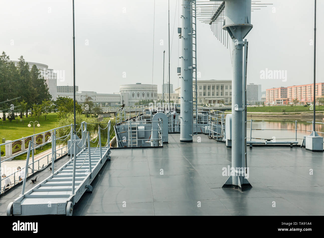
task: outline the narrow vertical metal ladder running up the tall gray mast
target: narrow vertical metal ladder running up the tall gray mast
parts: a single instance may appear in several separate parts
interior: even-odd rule
[[[197,38],[196,38],[196,0],[191,1],[191,38],[192,38],[192,111],[195,112],[196,118],[192,118],[192,135],[197,134]],[[194,113],[192,113],[193,117]]]

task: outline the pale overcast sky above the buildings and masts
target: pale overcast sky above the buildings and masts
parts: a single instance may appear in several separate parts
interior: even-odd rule
[[[248,83],[261,84],[262,91],[312,83],[310,40],[314,38],[314,1],[262,0],[261,3],[273,5],[252,12],[253,29],[247,36]],[[58,80],[57,84],[73,85],[72,0],[0,0],[0,6],[0,50],[11,60],[23,55],[26,61],[64,71],[65,80]],[[317,82],[324,82],[323,9],[324,1],[318,0]],[[170,82],[174,87],[180,83],[178,10],[179,0],[170,0]],[[119,92],[121,84],[151,84],[153,19],[154,0],[75,0],[75,79],[79,90],[113,93]],[[158,85],[159,92],[164,50],[167,75],[168,0],[155,0],[153,84]],[[202,22],[197,25],[197,68],[202,80],[231,79],[229,49]],[[261,79],[260,71],[266,68],[286,70],[286,81]]]

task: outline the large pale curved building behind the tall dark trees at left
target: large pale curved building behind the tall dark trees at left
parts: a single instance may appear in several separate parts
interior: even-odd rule
[[[17,66],[17,63],[19,61],[16,60],[12,60],[12,62],[15,63],[15,65]],[[56,73],[54,70],[49,69],[48,65],[46,64],[41,64],[41,63],[34,63],[34,62],[25,62],[28,63],[29,65],[29,71],[31,70],[31,68],[33,67],[33,65],[35,64],[37,69],[39,70],[40,74],[44,77],[47,87],[48,87],[48,91],[52,96],[52,100],[56,100],[57,97],[57,78],[56,78]]]

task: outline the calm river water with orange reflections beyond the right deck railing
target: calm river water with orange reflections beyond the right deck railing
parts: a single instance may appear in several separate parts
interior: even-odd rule
[[[247,140],[250,138],[250,121],[247,122]],[[259,130],[254,130],[259,129]],[[261,130],[260,130],[261,129]],[[252,121],[252,141],[263,141],[263,139],[276,139],[277,141],[295,141],[295,121]],[[312,123],[297,122],[297,141],[300,145],[303,137],[310,135]],[[316,131],[323,136],[324,124],[316,123]],[[259,138],[259,139],[254,139]]]

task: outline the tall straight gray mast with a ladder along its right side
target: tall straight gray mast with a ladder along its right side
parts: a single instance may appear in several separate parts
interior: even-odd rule
[[[180,142],[192,142],[191,1],[182,0]],[[170,79],[169,79],[170,80]]]

